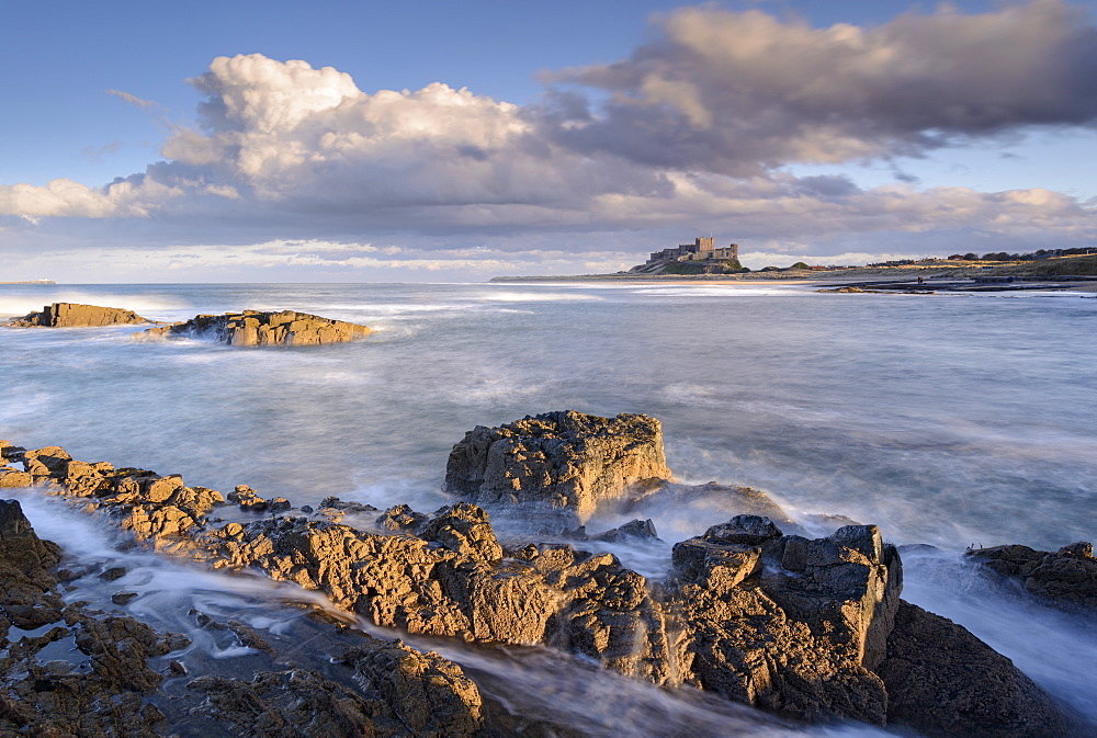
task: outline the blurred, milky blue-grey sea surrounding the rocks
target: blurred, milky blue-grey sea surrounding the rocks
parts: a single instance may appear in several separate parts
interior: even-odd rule
[[[0,316],[53,302],[167,321],[293,309],[373,332],[349,344],[242,350],[132,341],[140,327],[0,329],[0,438],[18,445],[60,445],[82,461],[181,474],[190,486],[246,484],[295,506],[335,496],[429,512],[450,501],[448,454],[476,425],[563,409],[646,413],[663,423],[679,481],[754,487],[818,535],[841,524],[834,520],[879,525],[903,546],[905,599],[964,625],[1097,720],[1094,624],[963,559],[972,547],[1097,540],[1097,299],[1084,293],[823,294],[746,282],[0,285]],[[101,522],[56,499],[21,497],[44,537],[88,557],[140,557],[132,574],[144,572],[134,586],[146,601],[201,591],[226,611],[265,612],[285,597],[265,583],[241,592],[223,575],[177,576],[181,564],[118,548]],[[670,544],[734,511],[720,500],[655,499],[630,514],[651,518],[666,545],[584,546],[658,579]],[[623,522],[596,515],[587,527]],[[500,533],[519,535],[508,524]],[[520,691],[591,736],[672,735],[668,725],[687,723],[694,736],[889,735],[774,727],[746,708],[730,716],[714,701],[611,674],[591,692],[588,670],[551,654],[485,662],[456,644],[431,647],[489,674],[499,699]],[[597,694],[603,709],[575,708]]]

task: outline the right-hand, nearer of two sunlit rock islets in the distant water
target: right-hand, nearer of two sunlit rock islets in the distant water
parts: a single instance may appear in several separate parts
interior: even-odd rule
[[[225,315],[200,315],[184,322],[150,328],[134,340],[213,338],[236,347],[298,347],[343,343],[365,338],[370,329],[342,320],[306,313],[244,310]]]

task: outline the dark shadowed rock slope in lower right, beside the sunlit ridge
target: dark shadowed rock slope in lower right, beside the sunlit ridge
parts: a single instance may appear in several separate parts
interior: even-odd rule
[[[887,717],[941,738],[1066,738],[1083,733],[1006,657],[950,620],[902,602],[879,668]]]

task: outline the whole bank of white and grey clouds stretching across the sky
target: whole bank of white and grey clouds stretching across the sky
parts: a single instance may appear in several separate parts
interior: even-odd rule
[[[548,268],[563,263],[545,256],[557,250],[608,264],[683,227],[766,240],[759,253],[842,254],[840,239],[871,234],[919,236],[927,252],[961,232],[1040,246],[1097,237],[1093,204],[1045,190],[919,189],[900,174],[866,190],[784,170],[1093,127],[1097,32],[1071,5],[827,29],[705,5],[657,32],[626,59],[551,76],[544,100],[524,107],[442,82],[370,93],[330,67],[218,57],[191,80],[205,95],[199,125],[172,129],[163,161],[100,188],[0,185],[0,216],[145,222],[132,232],[170,232],[174,249],[231,226],[253,242],[235,256],[172,252],[173,263],[323,269]],[[333,246],[362,232],[399,252]],[[418,246],[393,246],[398,232]],[[470,239],[491,253],[460,256],[454,243]]]

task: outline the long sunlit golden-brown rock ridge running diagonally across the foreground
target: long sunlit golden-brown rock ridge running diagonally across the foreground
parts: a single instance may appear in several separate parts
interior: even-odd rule
[[[214,502],[178,477],[83,464],[57,447],[27,456],[27,468],[38,475],[35,484],[86,497],[124,526],[133,526],[138,514],[152,520],[185,502],[194,514],[188,512],[193,524],[174,534],[181,550],[215,567],[260,569],[321,590],[377,625],[483,643],[550,645],[624,674],[693,684],[798,719],[884,723],[890,690],[874,670],[897,668],[896,655],[906,652],[889,651],[902,564],[872,525],[847,525],[810,540],[782,535],[764,518],[739,515],[676,546],[676,569],[666,586],[649,587],[610,554],[544,544],[502,550],[487,513],[470,503],[429,516],[392,509],[378,524],[395,533],[306,518],[211,530],[194,506]],[[595,468],[604,472],[604,464]],[[619,469],[609,476],[623,475]],[[151,533],[157,545],[165,535]],[[1088,550],[1075,546],[1067,554]],[[943,647],[957,659],[974,648],[963,638]],[[982,658],[977,649],[972,654]],[[925,668],[948,670],[940,665]],[[939,679],[946,683],[952,677]],[[1013,694],[1027,701],[1018,706],[1022,712],[1038,711],[1045,699],[1039,691]],[[248,696],[247,704],[267,715],[265,700]],[[962,724],[968,718],[955,713],[964,708],[963,700],[948,703],[942,719]]]

